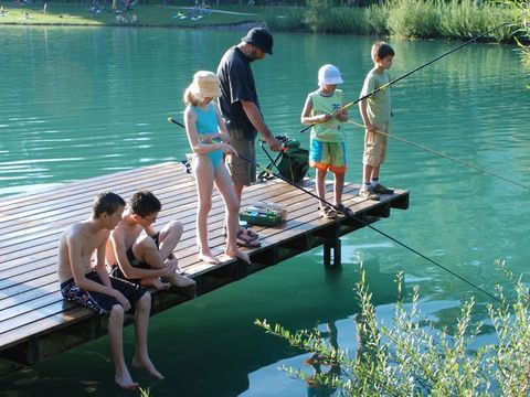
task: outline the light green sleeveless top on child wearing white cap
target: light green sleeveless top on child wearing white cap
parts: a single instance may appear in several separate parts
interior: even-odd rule
[[[312,110],[311,116],[321,114],[332,114],[340,109],[343,104],[343,96],[341,89],[336,89],[332,95],[324,96],[318,89],[309,94],[311,99]],[[321,142],[342,142],[342,131],[340,129],[341,122],[335,117],[327,122],[319,122],[311,128],[311,139],[317,139]]]

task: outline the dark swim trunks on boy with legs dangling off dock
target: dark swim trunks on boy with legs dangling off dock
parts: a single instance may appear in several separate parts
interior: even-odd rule
[[[128,301],[130,302],[130,308],[131,310],[134,310],[136,302],[138,302],[140,298],[144,297],[144,293],[146,293],[147,291],[144,288],[129,281],[120,280],[113,276],[109,277],[113,288],[121,292],[124,297],[128,299]],[[86,278],[88,280],[103,285],[102,280],[99,279],[99,275],[95,270],[86,275]],[[64,281],[61,285],[61,293],[63,294],[64,299],[81,304],[85,308],[92,309],[100,315],[109,315],[113,305],[121,304],[116,298],[110,297],[106,293],[82,290],[74,282],[73,278]]]

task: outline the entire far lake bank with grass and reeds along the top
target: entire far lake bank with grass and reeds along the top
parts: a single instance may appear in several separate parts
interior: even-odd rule
[[[328,0],[309,0],[306,7],[221,6],[191,8],[141,4],[128,11],[89,8],[87,4],[43,3],[14,6],[1,24],[81,25],[124,28],[205,28],[245,30],[267,24],[273,31],[395,36],[405,39],[468,40],[516,18],[516,10],[471,0],[426,4],[400,0],[368,8],[333,7]],[[392,18],[389,15],[392,14]],[[486,42],[513,43],[517,26],[505,25],[481,37]]]

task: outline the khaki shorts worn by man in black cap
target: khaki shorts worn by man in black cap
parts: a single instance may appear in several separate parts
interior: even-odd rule
[[[255,139],[248,140],[240,129],[229,129],[232,144],[239,154],[246,157],[252,164],[235,155],[226,155],[226,167],[229,168],[232,181],[236,185],[251,185],[256,182],[256,146]]]

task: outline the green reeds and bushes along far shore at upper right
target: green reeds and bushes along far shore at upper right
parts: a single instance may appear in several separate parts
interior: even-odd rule
[[[478,0],[390,0],[368,8],[346,8],[335,7],[332,0],[307,0],[306,7],[293,15],[286,13],[282,21],[267,21],[271,28],[409,39],[470,39],[512,21],[515,7]],[[507,25],[483,40],[512,42],[516,29]]]

